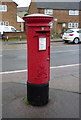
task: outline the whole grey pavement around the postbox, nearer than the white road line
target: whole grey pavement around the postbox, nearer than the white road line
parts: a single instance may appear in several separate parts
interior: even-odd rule
[[[26,105],[27,72],[2,74],[3,118],[79,118],[79,75],[74,68],[51,68],[49,103],[42,107]],[[64,75],[64,71],[68,71]],[[71,74],[70,74],[71,73]],[[76,73],[76,74],[75,74]]]

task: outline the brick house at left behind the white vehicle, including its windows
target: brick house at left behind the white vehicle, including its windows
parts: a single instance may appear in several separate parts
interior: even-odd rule
[[[20,30],[20,23],[17,22],[17,4],[13,0],[0,2],[0,25],[14,26]]]

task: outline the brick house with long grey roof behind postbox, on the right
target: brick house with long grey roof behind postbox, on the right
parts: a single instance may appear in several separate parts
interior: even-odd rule
[[[61,33],[68,28],[80,27],[79,2],[31,2],[28,14],[42,13],[53,16],[51,33]]]

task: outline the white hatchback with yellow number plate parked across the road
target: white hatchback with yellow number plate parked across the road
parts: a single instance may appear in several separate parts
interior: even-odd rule
[[[75,44],[78,44],[81,42],[81,29],[68,29],[62,35],[62,40],[66,43],[74,42]]]

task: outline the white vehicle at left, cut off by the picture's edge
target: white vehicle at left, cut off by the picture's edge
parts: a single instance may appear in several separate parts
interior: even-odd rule
[[[0,25],[1,35],[3,35],[3,32],[16,32],[16,29],[13,26]]]

